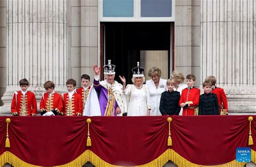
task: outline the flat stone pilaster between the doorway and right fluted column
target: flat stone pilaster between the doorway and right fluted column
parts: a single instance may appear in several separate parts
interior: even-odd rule
[[[175,69],[196,76],[200,85],[200,0],[176,0]],[[186,83],[186,81],[184,82]]]

